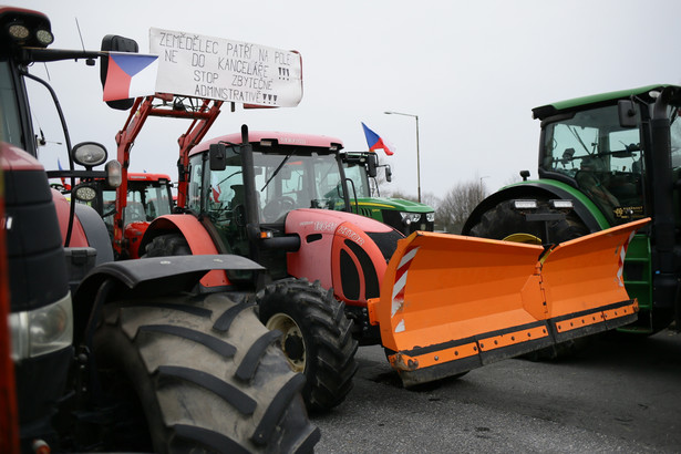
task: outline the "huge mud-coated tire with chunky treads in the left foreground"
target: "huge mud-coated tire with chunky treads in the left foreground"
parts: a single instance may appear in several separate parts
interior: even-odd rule
[[[290,370],[277,339],[244,298],[107,303],[93,339],[101,404],[115,415],[104,447],[312,452],[320,433],[300,396],[305,378]]]

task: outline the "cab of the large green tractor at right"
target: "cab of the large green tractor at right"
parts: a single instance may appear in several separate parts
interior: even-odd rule
[[[652,105],[659,90],[642,90],[630,101],[617,93],[610,100],[574,105],[548,105],[534,110],[543,122],[539,176],[576,187],[606,217],[608,225],[620,225],[652,215],[651,186],[653,152],[649,131]],[[670,120],[671,155],[663,161],[681,167],[681,121],[679,106],[667,107]],[[669,154],[670,151],[665,153]],[[654,154],[654,156],[653,156]],[[669,161],[668,161],[669,159]],[[668,167],[669,168],[669,167]],[[671,185],[672,175],[657,175],[658,183]],[[651,190],[652,189],[652,190]]]

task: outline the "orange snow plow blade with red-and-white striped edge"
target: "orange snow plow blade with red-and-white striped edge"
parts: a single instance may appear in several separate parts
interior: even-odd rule
[[[417,231],[370,301],[405,386],[636,320],[626,248],[649,219],[541,246]]]

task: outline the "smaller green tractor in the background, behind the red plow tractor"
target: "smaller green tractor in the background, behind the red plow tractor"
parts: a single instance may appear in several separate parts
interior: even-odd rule
[[[403,198],[380,196],[379,185],[375,184],[378,167],[385,167],[388,182],[392,179],[392,172],[389,165],[379,165],[375,153],[342,153],[341,162],[349,179],[352,213],[388,224],[406,236],[416,230],[434,230],[435,210],[432,207]],[[371,179],[374,179],[373,184]]]

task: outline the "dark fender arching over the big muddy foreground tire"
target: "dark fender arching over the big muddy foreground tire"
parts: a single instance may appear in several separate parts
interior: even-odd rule
[[[89,323],[96,324],[101,306],[113,297],[118,300],[140,299],[145,296],[190,291],[209,271],[261,269],[264,268],[260,265],[245,257],[224,255],[154,257],[106,262],[94,268],[74,293],[74,344],[78,345],[83,340]]]

